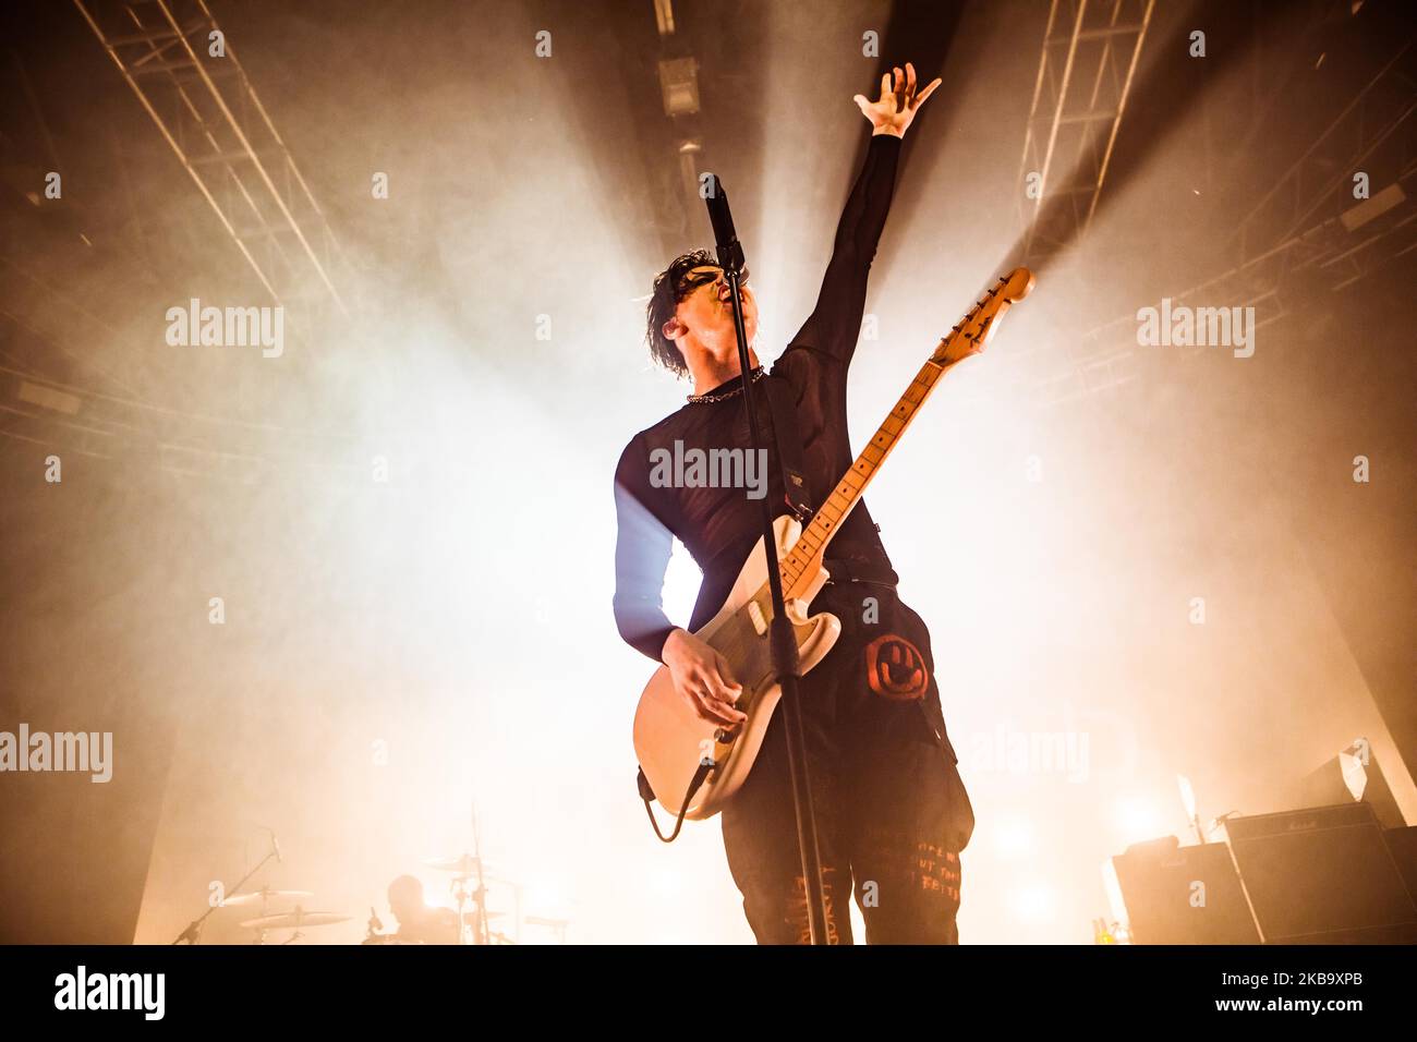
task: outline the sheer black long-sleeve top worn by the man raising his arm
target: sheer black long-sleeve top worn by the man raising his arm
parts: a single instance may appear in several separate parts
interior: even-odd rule
[[[866,278],[896,187],[900,138],[876,135],[846,201],[822,279],[816,308],[772,366],[767,380],[785,380],[796,403],[802,465],[813,509],[846,474],[854,456],[846,431],[846,370],[856,350],[866,308]],[[708,391],[721,394],[738,377]],[[782,505],[782,471],[772,435],[767,388],[754,388],[762,441],[769,451],[768,498]],[[615,624],[621,637],[659,661],[674,628],[660,591],[677,536],[704,573],[689,629],[697,629],[723,605],[752,544],[762,534],[762,506],[743,488],[656,488],[650,483],[655,449],[750,451],[748,411],[741,394],[690,403],[640,431],[615,468]],[[786,510],[785,505],[778,513]],[[888,567],[866,503],[842,525],[832,554]]]

